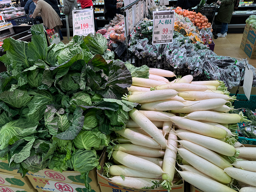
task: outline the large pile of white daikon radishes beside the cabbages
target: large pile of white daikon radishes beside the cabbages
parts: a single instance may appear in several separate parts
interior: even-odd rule
[[[169,82],[164,77],[174,77],[173,72],[149,72],[150,79],[133,78],[132,93],[123,97],[141,108],[130,111],[126,128],[116,131],[121,137],[112,150],[117,165],[109,167],[111,180],[170,190],[178,152],[187,162],[178,173],[200,190],[235,191],[230,188],[234,178],[252,186],[240,191],[256,191],[256,147],[229,144],[236,135],[221,124],[247,120],[242,113],[227,113],[231,108],[225,104],[234,98],[217,91],[221,82],[193,82],[191,75]]]

